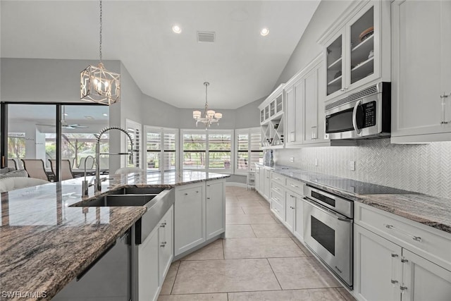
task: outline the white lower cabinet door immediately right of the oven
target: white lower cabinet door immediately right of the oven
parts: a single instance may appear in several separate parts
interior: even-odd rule
[[[401,252],[400,246],[354,224],[354,295],[358,300],[400,300]]]

